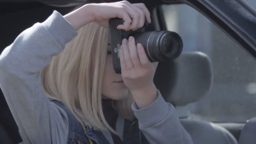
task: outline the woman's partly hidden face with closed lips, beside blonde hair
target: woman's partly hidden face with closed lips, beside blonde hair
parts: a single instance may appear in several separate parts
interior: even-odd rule
[[[111,51],[110,43],[107,51]],[[128,96],[128,88],[123,82],[122,75],[115,73],[111,54],[107,54],[101,94],[103,99],[114,100],[125,99]]]

